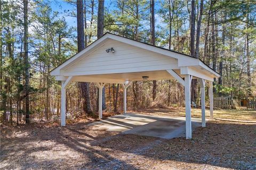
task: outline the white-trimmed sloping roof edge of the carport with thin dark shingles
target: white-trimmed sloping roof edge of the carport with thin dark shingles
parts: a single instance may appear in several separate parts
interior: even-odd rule
[[[104,35],[102,35],[99,39],[95,40],[92,44],[90,44],[89,46],[85,47],[83,50],[81,50],[81,52],[78,52],[76,53],[75,55],[71,56],[70,58],[68,58],[66,61],[64,61],[63,63],[61,63],[59,66],[55,67],[53,70],[51,70],[51,72],[53,72],[54,70],[56,69],[61,69],[62,67],[64,67],[65,65],[67,65],[66,63],[68,62],[73,62],[75,61],[80,55],[79,54],[83,54],[85,52],[87,52],[87,49],[90,50],[92,49],[95,45],[98,45],[101,41],[107,39],[107,38],[110,38],[110,39],[116,39],[116,38],[119,38],[119,39],[123,39],[123,40],[129,40],[129,41],[133,41],[134,43],[139,43],[141,46],[143,45],[144,47],[154,47],[154,48],[150,48],[151,51],[155,52],[154,49],[158,49],[160,50],[161,52],[163,53],[166,53],[166,52],[171,52],[171,53],[175,53],[175,54],[178,54],[179,56],[185,56],[185,57],[189,57],[189,58],[193,58],[193,60],[198,60],[200,61],[200,65],[202,64],[204,67],[206,66],[207,69],[206,70],[211,70],[210,72],[214,72],[215,75],[217,75],[219,77],[219,73],[214,71],[210,66],[208,66],[207,64],[205,64],[202,60],[200,60],[199,58],[196,58],[194,56],[190,56],[190,55],[187,55],[187,54],[182,54],[182,53],[179,53],[179,52],[176,52],[174,50],[169,50],[169,49],[166,49],[166,48],[163,48],[163,47],[158,47],[158,46],[154,46],[154,45],[151,45],[151,44],[147,44],[147,43],[144,43],[144,42],[141,42],[141,41],[138,41],[138,40],[134,40],[134,39],[131,39],[131,38],[126,38],[126,37],[123,37],[123,36],[119,36],[119,35],[115,35],[114,33],[110,33],[110,32],[106,32]],[[156,52],[156,53],[159,53]],[[177,59],[179,59],[179,56],[177,57]],[[183,57],[182,57],[183,58]],[[73,60],[73,61],[72,61]],[[201,66],[202,66],[201,65]]]

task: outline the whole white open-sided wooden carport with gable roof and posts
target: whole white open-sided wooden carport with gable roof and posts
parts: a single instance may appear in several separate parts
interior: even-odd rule
[[[107,50],[108,49],[108,50]],[[107,52],[108,51],[108,52]],[[175,79],[185,87],[186,138],[191,133],[190,84],[199,79],[201,86],[202,126],[205,127],[205,84],[210,87],[210,114],[213,118],[214,78],[220,75],[198,58],[164,48],[141,43],[129,38],[105,33],[101,38],[69,58],[51,75],[61,81],[61,125],[66,125],[66,87],[71,81],[94,82],[100,89],[99,118],[102,118],[102,88],[105,83],[119,83],[124,88],[124,113],[126,89],[132,81]]]

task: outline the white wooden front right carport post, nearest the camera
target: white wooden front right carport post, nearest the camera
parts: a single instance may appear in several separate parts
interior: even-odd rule
[[[191,75],[185,75],[185,104],[186,104],[186,139],[192,138],[192,126],[191,126],[191,106],[190,106],[190,80]]]

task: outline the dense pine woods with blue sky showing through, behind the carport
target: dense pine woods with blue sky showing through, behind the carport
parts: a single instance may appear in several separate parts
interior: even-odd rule
[[[214,80],[215,97],[256,95],[253,1],[0,0],[0,6],[1,122],[59,120],[61,82],[51,70],[105,32],[200,58],[221,75]],[[197,105],[199,85],[192,81],[191,101]],[[123,111],[119,86],[103,88],[105,112]],[[72,83],[66,92],[67,118],[97,117],[98,95],[93,83]],[[130,110],[184,106],[184,101],[184,88],[174,80],[133,81],[127,88]]]

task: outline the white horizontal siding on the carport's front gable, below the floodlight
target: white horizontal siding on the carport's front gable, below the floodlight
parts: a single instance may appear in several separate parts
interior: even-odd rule
[[[115,53],[106,49],[114,47]],[[116,40],[107,43],[74,64],[61,70],[61,75],[91,75],[177,69],[178,61]]]

